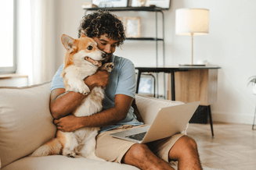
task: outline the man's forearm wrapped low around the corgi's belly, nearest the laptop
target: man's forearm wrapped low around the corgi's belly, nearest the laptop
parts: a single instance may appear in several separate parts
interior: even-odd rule
[[[81,127],[102,127],[113,125],[126,118],[129,108],[132,105],[132,97],[124,94],[117,94],[113,108],[108,108],[91,116],[76,117],[67,115],[61,119],[54,120],[57,129],[63,132],[72,132]]]

